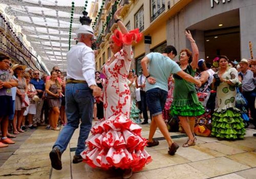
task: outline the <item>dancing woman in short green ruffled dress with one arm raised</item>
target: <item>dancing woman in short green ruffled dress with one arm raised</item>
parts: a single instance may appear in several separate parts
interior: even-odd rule
[[[181,50],[180,68],[194,77],[198,64],[199,51],[191,33],[186,31],[185,35],[190,41],[193,55],[188,49]],[[187,142],[182,146],[189,147],[196,145],[194,135],[195,117],[204,114],[205,110],[198,100],[195,85],[183,80],[176,74],[174,74],[174,79],[174,100],[170,107],[170,115],[179,117],[180,123],[188,136]]]

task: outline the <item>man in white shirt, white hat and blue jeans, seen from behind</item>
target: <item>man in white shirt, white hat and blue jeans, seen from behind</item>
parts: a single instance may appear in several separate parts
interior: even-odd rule
[[[73,163],[82,162],[80,153],[86,148],[85,141],[92,127],[94,96],[100,96],[101,88],[95,81],[94,51],[91,49],[94,39],[93,29],[82,25],[77,31],[78,43],[67,53],[66,115],[67,125],[61,130],[50,152],[52,167],[62,169],[61,154],[79,126],[80,132]]]

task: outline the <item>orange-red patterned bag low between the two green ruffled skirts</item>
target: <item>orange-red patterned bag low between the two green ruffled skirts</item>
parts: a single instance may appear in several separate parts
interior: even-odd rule
[[[198,118],[194,132],[197,136],[209,137],[211,133],[211,125],[209,121],[203,117]]]

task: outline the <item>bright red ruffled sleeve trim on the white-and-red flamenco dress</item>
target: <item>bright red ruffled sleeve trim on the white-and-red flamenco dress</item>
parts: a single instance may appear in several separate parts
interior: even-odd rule
[[[143,34],[139,32],[139,29],[131,30],[126,34],[122,34],[119,30],[115,30],[112,35],[113,41],[117,44],[117,46],[121,47],[123,44],[130,46],[133,41],[139,42],[142,39]]]

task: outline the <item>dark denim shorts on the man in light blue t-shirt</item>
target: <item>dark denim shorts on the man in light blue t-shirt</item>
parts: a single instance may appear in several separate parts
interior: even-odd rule
[[[167,92],[158,87],[146,91],[146,104],[153,117],[162,114],[166,98]]]

